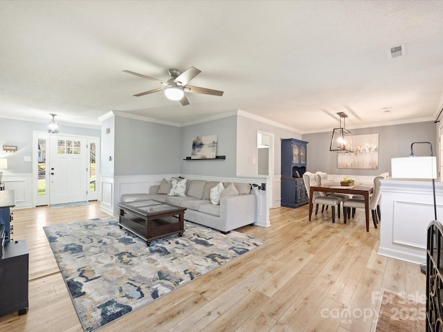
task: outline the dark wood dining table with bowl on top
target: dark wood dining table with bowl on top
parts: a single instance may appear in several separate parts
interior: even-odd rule
[[[354,183],[354,185],[341,185],[336,182],[323,183],[322,185],[311,185],[309,187],[309,221],[311,221],[312,214],[312,197],[314,192],[335,192],[337,194],[361,195],[365,200],[365,215],[366,215],[366,232],[369,232],[369,200],[372,192],[374,192],[374,185],[372,183]],[[345,213],[343,211],[343,213]]]

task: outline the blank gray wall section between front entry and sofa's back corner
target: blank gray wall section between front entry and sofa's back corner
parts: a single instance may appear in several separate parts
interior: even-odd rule
[[[116,116],[114,131],[115,176],[179,174],[179,127]]]

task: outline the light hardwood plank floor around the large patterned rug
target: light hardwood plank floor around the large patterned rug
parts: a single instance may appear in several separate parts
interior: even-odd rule
[[[307,205],[271,210],[271,227],[240,232],[266,240],[100,331],[374,331],[381,292],[424,296],[419,266],[377,255],[379,229],[363,211],[343,225]],[[30,252],[29,311],[0,318],[1,331],[83,331],[42,227],[107,216],[92,205],[14,211],[13,238]]]

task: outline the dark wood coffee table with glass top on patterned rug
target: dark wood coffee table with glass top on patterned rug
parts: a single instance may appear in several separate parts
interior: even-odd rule
[[[150,199],[117,203],[120,208],[118,225],[141,237],[150,246],[152,240],[172,234],[183,235],[186,208]]]

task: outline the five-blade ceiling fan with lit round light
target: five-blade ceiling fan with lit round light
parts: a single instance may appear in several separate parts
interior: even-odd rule
[[[199,75],[201,71],[195,67],[190,67],[183,73],[180,73],[179,69],[170,68],[168,70],[168,74],[170,75],[170,79],[168,82],[164,82],[162,80],[158,80],[154,77],[149,77],[146,75],[142,75],[139,73],[134,73],[134,71],[124,71],[125,73],[136,75],[138,77],[147,78],[148,80],[152,80],[155,82],[159,82],[163,84],[162,88],[145,91],[142,93],[137,93],[134,97],[140,97],[141,95],[149,95],[150,93],[165,91],[165,95],[170,100],[179,100],[179,102],[186,106],[189,104],[188,98],[186,98],[185,92],[190,93],[204,93],[205,95],[223,95],[224,91],[218,91],[213,89],[200,88],[199,86],[191,86],[187,85],[190,80]]]

